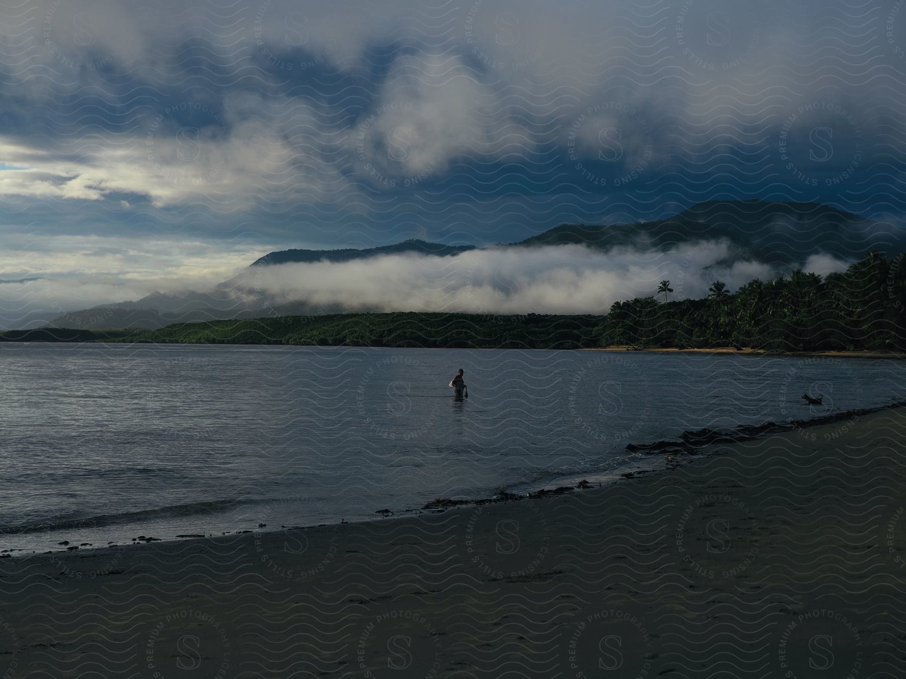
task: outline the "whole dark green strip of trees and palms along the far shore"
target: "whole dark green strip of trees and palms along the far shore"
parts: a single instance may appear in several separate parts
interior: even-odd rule
[[[751,347],[906,351],[906,254],[870,253],[825,278],[795,271],[730,293],[720,281],[703,300],[617,301],[606,316],[342,313],[176,323],[159,330],[12,330],[5,341],[301,344],[351,347],[578,349]],[[656,299],[662,296],[664,301]]]

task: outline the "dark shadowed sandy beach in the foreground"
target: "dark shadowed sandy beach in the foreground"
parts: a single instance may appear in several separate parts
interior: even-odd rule
[[[540,499],[0,559],[0,677],[903,676],[904,444],[897,407]]]

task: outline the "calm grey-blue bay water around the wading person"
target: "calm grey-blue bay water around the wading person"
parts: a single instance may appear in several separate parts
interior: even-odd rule
[[[888,359],[4,343],[0,549],[375,519],[601,480],[644,458],[628,443],[878,406],[906,397],[904,377]]]

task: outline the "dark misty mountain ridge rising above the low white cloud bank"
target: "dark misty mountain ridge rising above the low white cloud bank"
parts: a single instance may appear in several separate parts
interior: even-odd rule
[[[280,305],[248,308],[237,303],[252,291],[246,277],[265,267],[289,263],[344,263],[394,254],[457,257],[476,250],[532,248],[578,244],[599,251],[616,247],[665,251],[678,244],[726,240],[728,261],[757,261],[783,269],[805,263],[808,256],[824,253],[843,261],[858,259],[869,250],[896,254],[906,250],[902,234],[884,233],[860,215],[818,203],[776,202],[761,199],[712,200],[689,206],[677,215],[622,225],[568,224],[509,244],[477,246],[448,245],[421,239],[372,248],[307,250],[291,248],[267,253],[208,292],[181,295],[154,292],[138,301],[124,301],[71,311],[47,323],[58,328],[124,327],[158,328],[161,323],[254,318],[264,313],[285,315],[347,311],[336,305],[316,307],[304,299]],[[253,286],[254,287],[254,286]],[[254,292],[254,291],[252,291]],[[192,297],[190,293],[194,293]],[[325,309],[329,311],[325,311]],[[113,310],[113,311],[109,311]],[[146,311],[147,318],[142,318]],[[358,311],[381,311],[380,309]],[[116,325],[97,325],[98,317],[118,320]],[[94,321],[94,322],[92,322]]]

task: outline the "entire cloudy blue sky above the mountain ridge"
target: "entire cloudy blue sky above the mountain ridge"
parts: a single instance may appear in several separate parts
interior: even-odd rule
[[[718,198],[899,228],[904,3],[9,0],[0,280],[56,282],[0,299],[50,314],[276,249]]]

